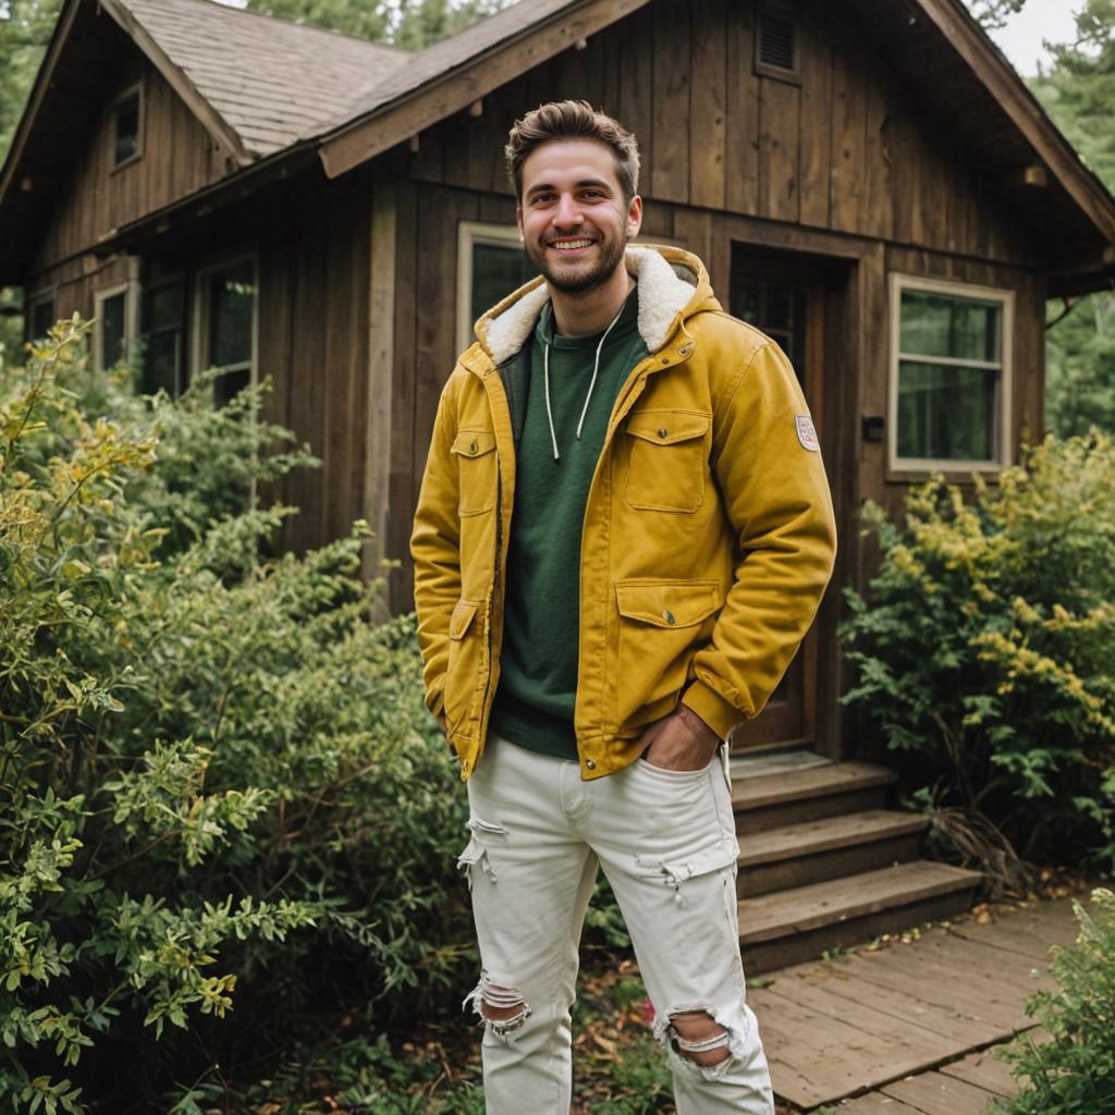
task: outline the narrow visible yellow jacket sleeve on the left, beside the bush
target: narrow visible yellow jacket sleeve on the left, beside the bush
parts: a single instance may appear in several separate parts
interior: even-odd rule
[[[456,434],[452,390],[450,378],[434,419],[434,435],[410,535],[423,683],[426,704],[435,716],[442,714],[445,705],[449,617],[460,598],[460,520],[457,514],[458,473],[452,452]]]

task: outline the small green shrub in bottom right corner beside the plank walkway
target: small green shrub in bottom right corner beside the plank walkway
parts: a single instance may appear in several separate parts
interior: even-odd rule
[[[1026,1012],[1048,1040],[1024,1035],[998,1054],[1021,1093],[999,1115],[1109,1115],[1115,1111],[1115,894],[1092,892],[1094,917],[1074,900],[1075,948],[1054,946],[1057,991],[1038,991]]]

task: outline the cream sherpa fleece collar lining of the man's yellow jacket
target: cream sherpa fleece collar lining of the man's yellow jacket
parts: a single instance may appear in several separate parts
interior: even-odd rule
[[[651,248],[629,248],[624,262],[639,282],[639,332],[648,350],[656,352],[670,334],[673,319],[692,299],[698,277],[694,274],[692,283],[680,279],[669,261]],[[546,284],[537,280],[537,285],[514,298],[506,309],[496,307],[491,316],[479,320],[477,334],[496,365],[526,343],[549,300]]]

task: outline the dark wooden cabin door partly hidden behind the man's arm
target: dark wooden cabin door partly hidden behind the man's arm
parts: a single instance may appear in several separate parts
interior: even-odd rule
[[[825,270],[786,253],[735,244],[729,310],[763,330],[789,357],[818,435],[824,428]],[[806,636],[766,708],[740,725],[734,752],[811,745],[815,738],[816,626]]]

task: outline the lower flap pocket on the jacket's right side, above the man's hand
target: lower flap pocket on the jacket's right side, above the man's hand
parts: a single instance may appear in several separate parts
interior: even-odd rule
[[[617,723],[681,691],[723,603],[718,581],[640,578],[615,585],[620,613]]]

